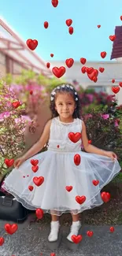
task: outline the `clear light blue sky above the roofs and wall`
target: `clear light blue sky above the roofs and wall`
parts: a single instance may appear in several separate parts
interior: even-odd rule
[[[109,61],[115,26],[122,25],[122,0],[1,0],[0,15],[20,37],[37,39],[35,52],[45,61],[87,58],[87,61]],[[74,33],[68,34],[65,20],[72,19]],[[43,27],[44,21],[49,28]],[[101,28],[97,25],[101,24]],[[100,53],[107,52],[105,59]],[[54,58],[50,58],[50,54]]]

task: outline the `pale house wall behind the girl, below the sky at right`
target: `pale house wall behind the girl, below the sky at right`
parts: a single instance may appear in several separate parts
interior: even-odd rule
[[[72,65],[70,69],[65,65],[65,61],[50,61],[50,64],[52,67],[57,66],[58,68],[64,65],[66,72],[63,78],[69,83],[76,80],[84,89],[94,87],[96,91],[106,91],[108,94],[114,95],[112,87],[118,86],[119,82],[122,82],[121,61],[87,61],[85,66],[89,68],[93,67],[94,69],[99,69],[102,67],[105,69],[103,73],[99,72],[97,83],[91,81],[87,77],[87,73],[83,74],[81,72],[83,65],[79,61],[74,62],[74,65]],[[115,83],[112,83],[113,79],[115,79]],[[119,93],[116,94],[116,99],[119,105],[122,104],[122,87],[120,87]]]

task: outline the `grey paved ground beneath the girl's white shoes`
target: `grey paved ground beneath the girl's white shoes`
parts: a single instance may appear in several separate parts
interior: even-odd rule
[[[28,221],[18,224],[18,230],[13,235],[6,235],[4,224],[13,222],[0,221],[0,237],[5,243],[0,247],[0,256],[121,256],[122,255],[122,226],[114,226],[115,232],[109,232],[109,226],[84,225],[81,231],[83,240],[76,250],[69,250],[65,244],[68,227],[62,227],[62,242],[57,250],[50,250],[47,236],[50,231],[49,224],[31,224],[28,230]],[[92,230],[94,236],[88,237],[87,230]],[[75,251],[76,250],[76,251]]]

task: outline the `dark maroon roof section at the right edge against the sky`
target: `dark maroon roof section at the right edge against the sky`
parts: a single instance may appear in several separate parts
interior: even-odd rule
[[[111,60],[122,57],[122,26],[116,26],[115,35],[116,39],[113,41]]]

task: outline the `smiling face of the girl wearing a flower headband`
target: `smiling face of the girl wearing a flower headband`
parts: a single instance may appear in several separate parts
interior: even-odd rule
[[[72,117],[76,108],[76,102],[69,93],[60,93],[55,101],[55,109],[62,118]]]

